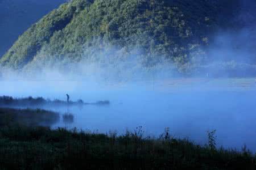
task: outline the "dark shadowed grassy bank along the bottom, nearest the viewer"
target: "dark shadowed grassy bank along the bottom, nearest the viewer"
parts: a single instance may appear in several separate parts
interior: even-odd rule
[[[208,145],[199,146],[172,138],[168,130],[151,138],[144,137],[141,127],[117,135],[1,124],[0,169],[256,168],[256,159],[246,148],[242,152],[216,149],[214,132],[208,138]]]

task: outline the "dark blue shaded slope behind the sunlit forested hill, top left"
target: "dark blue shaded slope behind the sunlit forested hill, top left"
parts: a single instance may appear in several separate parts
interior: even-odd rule
[[[26,29],[65,0],[0,0],[0,57]]]

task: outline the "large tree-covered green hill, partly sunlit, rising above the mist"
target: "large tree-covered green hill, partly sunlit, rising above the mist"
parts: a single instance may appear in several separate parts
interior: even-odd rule
[[[220,29],[241,29],[234,0],[73,0],[30,27],[0,59],[22,69],[136,54],[144,66],[160,59],[182,67],[207,61]]]

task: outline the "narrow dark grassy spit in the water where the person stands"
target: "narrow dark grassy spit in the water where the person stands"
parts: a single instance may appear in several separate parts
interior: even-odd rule
[[[11,96],[0,96],[0,107],[12,106],[12,107],[37,107],[41,105],[53,105],[53,106],[61,106],[61,105],[109,105],[109,100],[97,101],[95,103],[84,103],[84,101],[67,101],[55,99],[49,100],[44,99],[43,97],[24,97],[24,98],[13,98]]]

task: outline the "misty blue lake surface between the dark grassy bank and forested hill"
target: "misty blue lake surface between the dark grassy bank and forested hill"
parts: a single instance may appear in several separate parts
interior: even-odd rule
[[[217,145],[256,152],[256,82],[250,79],[171,79],[120,83],[81,81],[4,81],[1,94],[14,97],[85,102],[109,100],[110,105],[44,108],[60,113],[52,128],[67,127],[119,134],[142,126],[159,137],[165,128],[177,138],[204,145],[207,130],[216,129]]]

